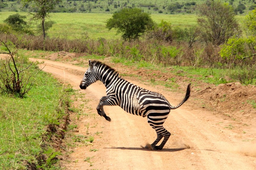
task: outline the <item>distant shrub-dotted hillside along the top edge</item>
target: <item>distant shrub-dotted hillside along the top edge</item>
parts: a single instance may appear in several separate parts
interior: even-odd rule
[[[255,0],[221,0],[231,4],[237,14],[246,13],[256,7]],[[152,14],[196,13],[196,6],[204,0],[62,0],[52,12],[114,13],[122,8],[140,8]],[[0,11],[35,11],[32,7],[22,7],[19,1],[2,0]]]

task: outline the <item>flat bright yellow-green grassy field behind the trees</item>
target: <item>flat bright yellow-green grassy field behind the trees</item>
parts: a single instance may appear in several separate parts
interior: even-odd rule
[[[16,12],[0,12],[0,24],[3,23],[9,15],[13,15]],[[29,27],[35,31],[36,25],[29,21],[31,16],[28,16],[26,12],[20,12],[20,15],[27,16],[27,22]],[[112,14],[107,13],[51,13],[48,21],[54,21],[55,24],[48,31],[49,37],[60,37],[68,39],[81,39],[81,38],[105,38],[105,39],[117,39],[120,38],[120,34],[116,34],[116,30],[108,30],[106,28],[106,22]],[[170,22],[173,27],[188,28],[197,25],[197,15],[195,14],[152,14],[151,18],[157,24],[161,20]],[[236,18],[239,22],[242,22],[244,15],[237,15]]]

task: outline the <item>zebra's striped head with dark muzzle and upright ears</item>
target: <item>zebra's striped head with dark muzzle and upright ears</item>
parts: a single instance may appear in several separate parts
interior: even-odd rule
[[[93,74],[93,63],[89,60],[89,68],[85,71],[83,80],[80,83],[81,89],[86,89],[89,85],[97,81],[96,77]]]

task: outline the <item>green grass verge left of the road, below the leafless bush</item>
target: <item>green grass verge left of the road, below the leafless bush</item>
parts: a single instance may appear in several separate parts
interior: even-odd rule
[[[51,137],[47,126],[60,124],[66,114],[61,104],[67,100],[65,96],[62,85],[44,72],[37,75],[24,98],[0,95],[0,165],[3,169],[26,169],[27,163],[37,168],[56,168],[53,163],[59,152],[47,144]],[[42,154],[48,158],[45,163],[38,160]]]

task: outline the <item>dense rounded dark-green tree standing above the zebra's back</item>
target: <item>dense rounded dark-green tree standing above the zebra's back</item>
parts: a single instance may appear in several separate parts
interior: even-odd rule
[[[117,28],[117,33],[122,33],[122,37],[129,41],[138,39],[144,32],[152,29],[153,20],[148,13],[142,12],[138,8],[124,8],[113,14],[107,20],[107,28]]]

